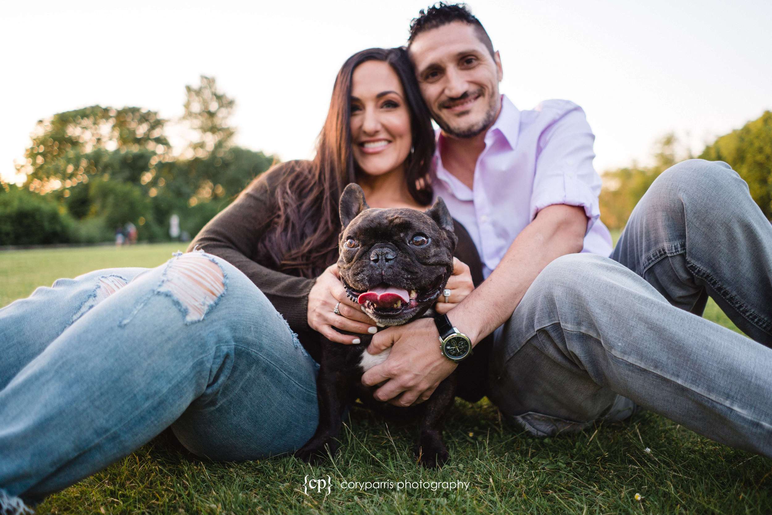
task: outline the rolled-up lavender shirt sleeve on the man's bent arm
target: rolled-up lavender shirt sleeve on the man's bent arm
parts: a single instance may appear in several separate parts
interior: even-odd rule
[[[601,177],[592,165],[595,136],[581,107],[567,100],[551,102],[557,105],[543,107],[550,123],[538,141],[530,220],[548,205],[580,206],[587,215],[587,235],[601,215]]]

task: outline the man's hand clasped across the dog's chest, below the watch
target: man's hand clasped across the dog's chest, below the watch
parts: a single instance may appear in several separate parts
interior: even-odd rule
[[[388,347],[394,348],[386,361],[362,375],[362,384],[374,386],[386,381],[374,391],[373,398],[395,406],[425,401],[459,366],[440,354],[439,344],[439,333],[431,318],[382,330],[374,335],[365,352],[380,354]]]

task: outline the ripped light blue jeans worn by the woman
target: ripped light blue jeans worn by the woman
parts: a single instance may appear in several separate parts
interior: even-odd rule
[[[317,428],[318,368],[252,281],[205,252],[40,287],[0,310],[0,513],[170,425],[210,459],[293,452]]]

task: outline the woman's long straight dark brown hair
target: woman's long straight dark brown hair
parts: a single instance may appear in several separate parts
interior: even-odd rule
[[[390,64],[402,83],[413,142],[405,163],[405,180],[415,202],[432,202],[432,188],[426,178],[435,151],[434,130],[407,52],[402,48],[362,50],[350,56],[337,74],[316,157],[277,165],[290,169],[276,187],[276,218],[258,244],[258,255],[272,268],[316,277],[337,260],[340,194],[364,173],[351,152],[350,117],[351,76],[365,61]]]

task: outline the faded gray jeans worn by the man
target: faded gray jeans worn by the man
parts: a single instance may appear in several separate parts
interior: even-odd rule
[[[746,334],[702,315],[711,296]],[[657,178],[610,258],[537,276],[500,337],[489,398],[532,435],[639,407],[772,457],[772,225],[722,161]]]

